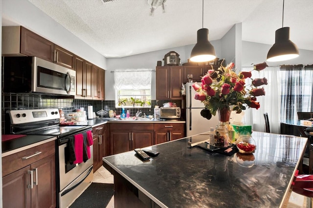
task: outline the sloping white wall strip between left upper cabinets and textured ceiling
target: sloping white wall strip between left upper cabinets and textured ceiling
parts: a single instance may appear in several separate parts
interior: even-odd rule
[[[27,0],[1,0],[2,18],[37,33],[81,58],[106,69],[106,58]],[[2,24],[1,24],[2,25]]]

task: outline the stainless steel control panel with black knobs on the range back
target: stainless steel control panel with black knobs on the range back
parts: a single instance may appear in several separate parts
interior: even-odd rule
[[[30,122],[47,121],[60,119],[59,110],[53,109],[32,109],[32,110],[8,110],[11,124],[25,124]]]

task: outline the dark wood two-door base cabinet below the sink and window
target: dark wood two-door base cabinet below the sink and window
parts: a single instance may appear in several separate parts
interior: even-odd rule
[[[154,144],[154,126],[151,123],[111,123],[110,144],[112,155],[135,148],[152,146]]]

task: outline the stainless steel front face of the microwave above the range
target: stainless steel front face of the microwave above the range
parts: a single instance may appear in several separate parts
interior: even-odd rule
[[[75,95],[74,70],[33,57],[32,91]]]

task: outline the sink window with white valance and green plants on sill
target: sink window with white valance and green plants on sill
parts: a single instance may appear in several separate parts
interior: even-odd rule
[[[151,69],[114,71],[115,107],[151,107]]]

